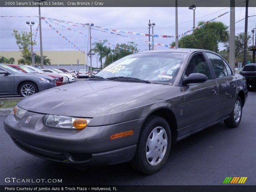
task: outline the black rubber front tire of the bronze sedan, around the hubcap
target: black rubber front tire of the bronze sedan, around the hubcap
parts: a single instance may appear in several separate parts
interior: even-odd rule
[[[158,159],[158,161],[159,161],[158,164],[150,165],[148,162],[150,160],[150,158],[149,158],[149,160],[147,160],[147,157],[146,157],[146,150],[149,150],[149,148],[147,146],[147,140],[150,137],[150,135],[152,135],[151,132],[153,130],[157,131],[157,127],[161,127],[160,129],[162,130],[162,133],[165,130],[165,133],[167,136],[167,146],[166,146],[166,149],[164,149],[164,146],[162,146],[162,142],[160,141],[161,142],[161,145],[160,145],[160,142],[157,139],[158,143],[154,143],[154,145],[157,145],[159,148],[155,147],[157,149],[154,148],[155,151],[153,151],[153,153],[155,153],[155,154],[159,153],[160,148],[161,148],[162,151],[165,150],[165,154],[161,161],[159,161],[159,159]],[[164,138],[165,136],[162,135],[162,137]],[[167,161],[167,158],[170,153],[171,143],[172,143],[171,138],[172,138],[171,129],[170,129],[167,121],[160,116],[149,116],[141,128],[139,140],[137,143],[137,150],[136,150],[135,156],[132,158],[132,160],[130,162],[131,166],[136,171],[141,172],[143,174],[153,174],[153,173],[159,171],[160,169],[162,169],[165,162]],[[160,138],[160,140],[162,140],[162,139]],[[147,147],[147,149],[146,149],[146,147]],[[156,160],[157,160],[157,158],[156,158]],[[153,162],[153,159],[152,159],[151,162],[154,163],[157,161]]]

